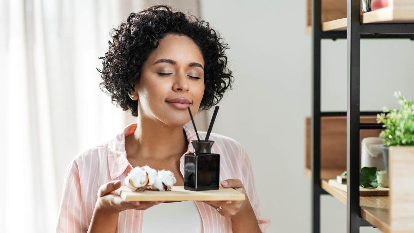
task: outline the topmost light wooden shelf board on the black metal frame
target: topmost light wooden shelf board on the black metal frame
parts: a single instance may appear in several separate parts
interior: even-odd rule
[[[361,15],[363,24],[369,23],[414,23],[414,7],[385,7]],[[346,31],[347,18],[322,23],[322,31]]]

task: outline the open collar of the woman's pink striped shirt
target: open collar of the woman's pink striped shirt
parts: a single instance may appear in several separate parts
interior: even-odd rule
[[[118,133],[109,143],[108,143],[108,167],[109,174],[111,179],[115,180],[117,177],[123,174],[127,167],[129,166],[132,169],[132,165],[127,159],[127,153],[125,151],[125,136],[134,133],[137,129],[137,123],[130,124],[126,126],[123,131]],[[186,153],[194,152],[193,144],[191,140],[197,140],[195,130],[188,128],[183,125],[183,130],[188,140],[188,148]],[[181,156],[180,161],[184,159],[184,155]],[[182,161],[181,161],[182,162]]]

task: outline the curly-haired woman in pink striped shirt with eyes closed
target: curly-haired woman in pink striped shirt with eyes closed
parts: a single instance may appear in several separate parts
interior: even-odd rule
[[[115,191],[133,167],[149,165],[174,173],[183,186],[184,154],[193,152],[195,131],[185,126],[187,110],[209,109],[221,100],[233,76],[227,49],[209,24],[156,5],[131,13],[112,32],[99,70],[101,90],[137,123],[113,140],[80,153],[64,183],[58,232],[266,232],[259,212],[250,160],[231,138],[211,133],[220,154],[225,188],[244,201],[123,201]],[[199,132],[204,139],[206,132]],[[96,195],[98,194],[98,195]]]

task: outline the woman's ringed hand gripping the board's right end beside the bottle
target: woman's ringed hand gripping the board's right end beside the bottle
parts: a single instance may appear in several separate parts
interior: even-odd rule
[[[221,181],[221,186],[224,188],[233,188],[236,189],[238,192],[243,193],[246,196],[244,201],[203,201],[214,208],[218,208],[221,206],[221,210],[218,211],[224,217],[234,217],[238,214],[243,213],[243,211],[248,210],[248,206],[250,205],[250,201],[247,198],[246,189],[244,189],[241,180],[239,179],[228,179]]]

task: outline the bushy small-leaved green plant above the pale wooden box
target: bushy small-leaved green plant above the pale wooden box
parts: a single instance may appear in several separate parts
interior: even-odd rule
[[[377,122],[383,123],[385,130],[380,133],[384,146],[414,146],[414,100],[407,101],[401,92],[395,92],[400,109],[389,110],[377,115]]]

